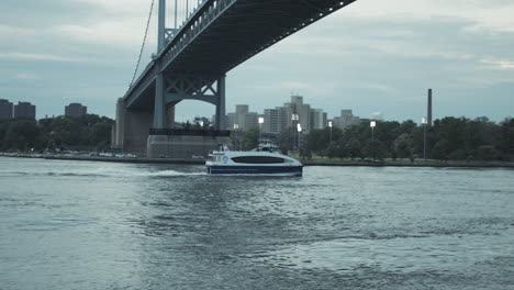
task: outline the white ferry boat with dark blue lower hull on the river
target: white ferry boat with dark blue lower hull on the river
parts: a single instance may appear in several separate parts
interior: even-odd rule
[[[271,143],[261,143],[249,152],[230,150],[222,146],[205,161],[210,175],[302,176],[303,165],[282,155]]]

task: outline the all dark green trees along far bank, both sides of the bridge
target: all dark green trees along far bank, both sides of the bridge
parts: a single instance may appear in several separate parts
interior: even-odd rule
[[[86,114],[80,118],[57,116],[0,122],[0,150],[103,150],[110,147],[114,121],[107,116]],[[205,130],[209,120],[198,118],[185,129]],[[258,127],[233,132],[233,147],[252,149],[261,137]],[[488,118],[444,118],[432,126],[409,120],[377,121],[371,132],[369,123],[340,130],[325,127],[299,134],[282,132],[276,140],[284,153],[299,152],[303,158],[313,156],[349,159],[438,159],[448,160],[514,160],[514,119],[500,123]],[[298,150],[300,148],[300,150]]]

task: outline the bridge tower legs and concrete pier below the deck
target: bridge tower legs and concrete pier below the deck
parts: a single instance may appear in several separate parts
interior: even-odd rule
[[[231,144],[225,129],[225,76],[215,78],[193,75],[163,75],[157,78],[155,94],[154,126],[147,141],[147,156],[150,158],[206,157],[220,144]],[[209,102],[216,108],[215,131],[172,130],[175,105],[182,100]]]

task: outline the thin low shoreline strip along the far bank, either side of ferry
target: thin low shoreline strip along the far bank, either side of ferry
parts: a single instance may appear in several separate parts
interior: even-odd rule
[[[103,163],[127,163],[127,164],[187,164],[203,165],[204,159],[179,159],[179,158],[127,158],[127,157],[92,157],[92,156],[63,156],[63,155],[40,155],[40,154],[0,154],[0,157],[11,158],[38,158],[48,160],[75,160],[75,161],[103,161]],[[487,163],[487,161],[320,161],[302,160],[303,166],[353,166],[353,167],[435,167],[435,168],[512,168],[514,163]]]

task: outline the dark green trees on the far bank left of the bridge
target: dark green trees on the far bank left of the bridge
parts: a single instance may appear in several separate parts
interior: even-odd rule
[[[96,114],[0,122],[0,150],[103,150],[111,145],[112,119]]]

